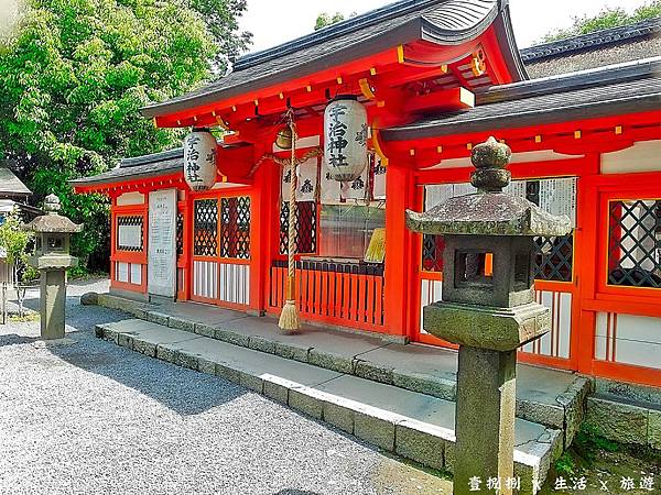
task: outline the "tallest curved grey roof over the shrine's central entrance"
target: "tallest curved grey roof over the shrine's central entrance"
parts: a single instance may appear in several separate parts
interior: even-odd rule
[[[415,40],[456,44],[478,36],[495,19],[508,24],[499,37],[503,43],[511,42],[508,0],[399,1],[283,45],[246,55],[237,61],[235,72],[216,82],[145,107],[142,113],[151,118],[210,103]],[[499,28],[502,30],[502,25]],[[524,78],[516,46],[507,48],[503,52],[511,72],[514,77]]]

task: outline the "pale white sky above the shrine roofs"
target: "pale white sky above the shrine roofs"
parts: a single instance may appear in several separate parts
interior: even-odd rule
[[[393,0],[248,0],[240,21],[253,34],[250,48],[269,48],[314,31],[319,12],[362,13]],[[647,0],[649,2],[649,0]],[[646,0],[510,0],[510,12],[520,48],[531,46],[549,31],[568,28],[574,16],[593,15],[606,7],[631,11]]]

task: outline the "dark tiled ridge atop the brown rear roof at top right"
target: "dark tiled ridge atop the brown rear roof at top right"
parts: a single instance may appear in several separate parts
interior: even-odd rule
[[[596,50],[632,42],[641,37],[651,37],[661,35],[661,18],[648,19],[635,24],[611,28],[596,31],[589,34],[559,40],[550,43],[543,43],[521,51],[521,58],[528,64],[537,63],[545,58],[559,56],[568,56],[573,53]],[[650,54],[654,55],[654,54]]]

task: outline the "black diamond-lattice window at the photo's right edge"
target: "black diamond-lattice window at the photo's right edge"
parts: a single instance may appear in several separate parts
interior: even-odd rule
[[[608,284],[661,288],[661,200],[611,201]]]

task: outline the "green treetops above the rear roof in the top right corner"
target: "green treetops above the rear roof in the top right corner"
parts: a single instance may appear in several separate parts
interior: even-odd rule
[[[571,28],[548,33],[542,42],[564,40],[581,34],[594,33],[595,31],[633,24],[646,19],[661,16],[661,0],[648,2],[632,13],[628,13],[621,7],[607,8],[594,16],[575,16]]]

